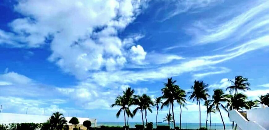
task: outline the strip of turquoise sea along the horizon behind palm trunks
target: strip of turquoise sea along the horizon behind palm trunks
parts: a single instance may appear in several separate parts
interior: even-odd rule
[[[135,128],[136,124],[142,124],[141,122],[129,122],[130,128]],[[124,122],[97,122],[97,126],[124,126]],[[156,128],[156,123],[153,123],[154,128]],[[168,125],[167,123],[158,123],[158,125]],[[176,126],[179,126],[179,123],[176,123]],[[201,124],[202,127],[206,127],[205,123]],[[170,127],[173,128],[173,124],[170,123]],[[182,129],[197,129],[199,128],[199,123],[181,123]],[[226,130],[232,130],[232,124],[225,124]],[[209,123],[208,123],[209,129]],[[213,123],[211,124],[211,130],[223,130],[223,124]]]

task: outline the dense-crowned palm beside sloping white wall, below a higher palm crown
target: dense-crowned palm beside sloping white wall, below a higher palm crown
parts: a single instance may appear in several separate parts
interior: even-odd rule
[[[232,110],[242,110],[244,107],[246,107],[246,99],[247,96],[242,94],[242,93],[238,93],[238,94],[234,94],[234,95],[227,95],[227,105],[226,108],[229,111]],[[229,116],[229,115],[228,115]],[[233,129],[237,128],[237,124],[234,126],[234,122],[232,122],[233,124]]]

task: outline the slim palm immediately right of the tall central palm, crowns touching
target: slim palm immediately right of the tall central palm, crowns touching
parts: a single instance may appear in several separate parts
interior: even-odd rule
[[[186,109],[187,109],[187,107],[186,107],[186,92],[185,92],[185,90],[183,90],[183,89],[180,89],[179,87],[178,87],[178,90],[176,90],[176,100],[177,100],[177,103],[179,104],[179,107],[180,107],[180,123],[179,123],[179,126],[180,126],[180,129],[181,129],[181,115],[182,115],[182,108],[181,108],[181,106],[182,107],[185,107]]]

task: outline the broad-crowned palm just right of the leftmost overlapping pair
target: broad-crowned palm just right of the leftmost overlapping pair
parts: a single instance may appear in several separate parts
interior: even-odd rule
[[[145,110],[145,112],[147,112],[147,110],[152,112],[150,107],[151,107],[151,105],[153,106],[154,104],[153,104],[151,98],[149,96],[147,96],[146,94],[143,94],[142,96],[135,95],[134,97],[135,97],[134,104],[137,105],[138,107],[136,107],[135,110],[133,111],[133,115],[135,115],[137,113],[137,111],[139,110],[141,112],[141,115],[142,115],[142,124],[144,126],[143,110]],[[145,115],[147,116],[147,114],[145,114]],[[146,119],[147,119],[147,117],[146,117]]]

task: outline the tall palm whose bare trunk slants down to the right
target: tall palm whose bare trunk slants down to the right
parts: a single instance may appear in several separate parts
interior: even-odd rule
[[[223,127],[224,127],[224,130],[226,129],[225,128],[225,124],[224,124],[224,121],[223,121],[223,118],[222,118],[222,115],[221,115],[221,112],[220,112],[220,106],[225,110],[225,106],[223,104],[221,104],[222,102],[226,102],[227,101],[227,95],[224,94],[223,90],[222,89],[214,89],[214,94],[212,95],[212,100],[209,100],[210,102],[212,102],[212,105],[210,107],[213,107],[215,106],[216,107],[216,110],[219,111],[220,113],[220,117],[221,117],[221,121],[223,123]]]

